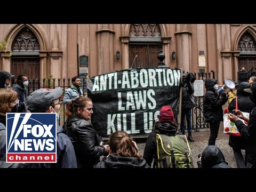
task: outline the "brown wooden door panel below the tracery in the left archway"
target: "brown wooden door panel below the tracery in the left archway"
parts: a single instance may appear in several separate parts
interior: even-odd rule
[[[29,92],[33,92],[33,89],[38,89],[40,86],[40,66],[39,58],[13,58],[11,64],[11,73],[17,82],[17,77],[19,74],[25,74],[29,79]],[[33,84],[33,79],[35,79],[35,84]],[[33,87],[35,86],[35,87]]]

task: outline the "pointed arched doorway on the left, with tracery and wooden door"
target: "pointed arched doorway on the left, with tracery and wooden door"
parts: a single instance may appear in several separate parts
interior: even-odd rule
[[[40,45],[33,31],[28,27],[22,28],[12,43],[11,73],[15,78],[25,74],[30,79],[36,79],[35,85],[39,85],[39,50]]]

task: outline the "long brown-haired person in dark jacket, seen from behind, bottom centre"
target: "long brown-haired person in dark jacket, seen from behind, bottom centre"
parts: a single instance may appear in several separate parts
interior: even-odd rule
[[[150,168],[138,154],[138,147],[125,131],[112,133],[109,140],[110,155],[95,168]]]

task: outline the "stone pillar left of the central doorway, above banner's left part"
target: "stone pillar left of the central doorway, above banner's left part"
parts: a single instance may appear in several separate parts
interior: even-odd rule
[[[99,25],[97,34],[98,74],[114,71],[114,34],[112,24]],[[110,67],[109,67],[110,66]]]

